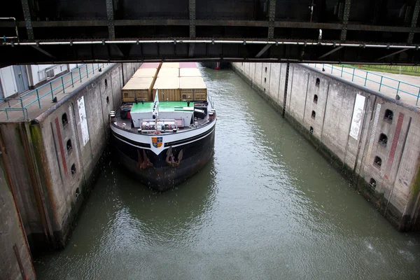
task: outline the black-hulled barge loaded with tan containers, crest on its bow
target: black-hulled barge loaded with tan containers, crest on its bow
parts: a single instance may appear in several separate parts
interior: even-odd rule
[[[111,145],[141,183],[165,191],[209,162],[217,118],[195,63],[144,63],[122,95],[110,113]]]

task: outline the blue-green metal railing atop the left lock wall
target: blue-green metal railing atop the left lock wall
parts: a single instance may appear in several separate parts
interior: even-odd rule
[[[74,87],[76,83],[83,83],[83,79],[89,78],[89,74],[94,74],[95,71],[102,71],[104,66],[108,65],[108,63],[97,63],[97,64],[83,64],[76,69],[73,69],[69,73],[66,73],[63,76],[59,76],[53,80],[50,80],[45,85],[41,85],[41,87],[37,87],[34,90],[30,90],[25,94],[20,95],[16,98],[0,98],[0,102],[6,102],[8,104],[8,108],[0,109],[1,111],[6,112],[6,118],[9,119],[8,113],[11,111],[22,111],[23,118],[25,120],[29,120],[28,110],[27,107],[31,104],[38,103],[39,109],[41,109],[41,99],[44,97],[50,96],[52,102],[56,102],[55,95],[59,93],[66,93],[66,89],[69,87]],[[46,92],[45,92],[46,90]],[[29,95],[33,95],[36,98],[25,104],[25,98]],[[10,106],[10,102],[15,102],[13,106]]]

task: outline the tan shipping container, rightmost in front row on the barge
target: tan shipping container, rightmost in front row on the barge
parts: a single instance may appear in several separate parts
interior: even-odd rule
[[[202,77],[179,78],[181,100],[207,101],[207,87]]]

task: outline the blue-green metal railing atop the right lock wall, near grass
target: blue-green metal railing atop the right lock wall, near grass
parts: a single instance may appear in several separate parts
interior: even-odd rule
[[[308,63],[308,65],[310,65]],[[411,83],[405,83],[402,80],[395,80],[393,78],[389,78],[386,76],[382,76],[379,75],[377,73],[372,73],[370,71],[365,71],[362,69],[357,69],[355,67],[346,65],[346,64],[340,64],[339,66],[334,66],[334,64],[314,64],[315,68],[319,66],[322,66],[323,71],[327,72],[327,73],[333,73],[334,71],[339,71],[340,72],[340,77],[343,77],[343,73],[346,74],[350,74],[351,75],[351,81],[354,81],[354,78],[361,78],[364,81],[364,86],[366,86],[366,83],[372,82],[378,85],[378,91],[381,92],[381,89],[383,89],[384,87],[388,87],[391,88],[393,90],[395,90],[395,99],[399,99],[398,95],[400,94],[400,92],[405,93],[405,94],[409,94],[413,97],[416,97],[416,106],[419,105],[419,98],[420,98],[420,87],[418,85],[412,85]],[[325,69],[328,69],[325,70]],[[329,70],[330,69],[330,70]],[[347,69],[349,69],[349,71],[346,71]],[[360,76],[360,74],[357,74],[357,71],[361,71],[363,72],[363,76]],[[380,78],[380,80],[372,80],[372,77],[377,76],[378,79]],[[398,85],[395,87],[393,85],[390,85],[390,83],[398,83]],[[406,85],[407,87],[410,87],[410,90],[407,91],[406,90],[402,90],[401,86],[402,85]]]

